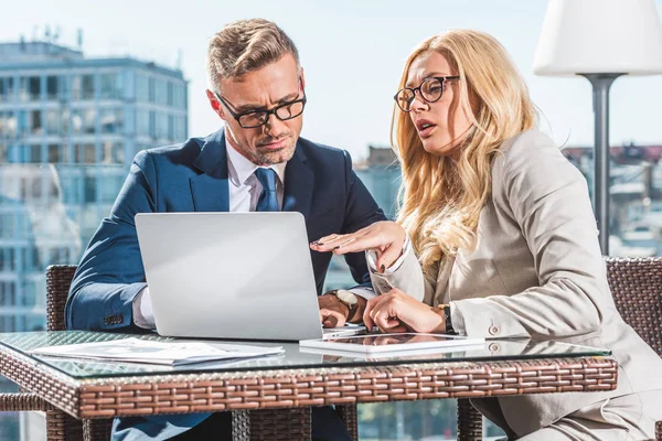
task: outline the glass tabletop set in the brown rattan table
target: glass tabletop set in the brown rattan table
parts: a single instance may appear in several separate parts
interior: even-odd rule
[[[607,356],[609,349],[580,346],[558,341],[488,340],[483,345],[461,348],[449,347],[419,354],[392,353],[364,355],[335,351],[299,347],[298,343],[237,342],[227,343],[257,346],[282,346],[281,355],[231,362],[207,362],[180,366],[97,361],[74,361],[32,354],[31,351],[55,345],[108,342],[127,337],[172,342],[175,338],[157,334],[117,334],[88,331],[0,333],[0,345],[14,349],[35,363],[43,363],[77,379],[128,375],[190,374],[202,372],[248,372],[290,368],[329,368],[356,366],[393,366],[398,364],[479,362],[499,359],[530,359],[549,357]],[[191,341],[191,340],[186,340]],[[201,341],[201,340],[196,340]],[[220,341],[213,341],[220,342]]]

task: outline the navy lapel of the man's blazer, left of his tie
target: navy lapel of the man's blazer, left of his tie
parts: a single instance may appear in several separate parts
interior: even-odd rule
[[[194,209],[196,212],[229,212],[224,129],[205,139],[193,164],[203,172],[190,180]]]

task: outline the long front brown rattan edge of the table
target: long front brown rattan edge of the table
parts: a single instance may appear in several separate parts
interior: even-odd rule
[[[615,361],[586,357],[85,380],[78,417],[597,391],[616,388],[616,373]]]

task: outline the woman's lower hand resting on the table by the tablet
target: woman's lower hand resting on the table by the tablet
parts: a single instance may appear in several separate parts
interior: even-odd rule
[[[442,333],[446,330],[444,314],[398,289],[369,300],[363,323],[369,330],[377,325],[382,332]]]

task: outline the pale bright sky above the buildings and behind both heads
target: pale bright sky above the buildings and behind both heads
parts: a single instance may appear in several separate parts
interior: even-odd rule
[[[660,10],[662,0],[655,4]],[[389,143],[393,95],[412,49],[445,30],[474,29],[510,52],[542,111],[541,128],[558,144],[590,146],[588,80],[532,73],[545,10],[546,0],[6,0],[0,42],[42,37],[50,26],[60,29],[61,44],[75,45],[82,29],[86,56],[169,66],[179,60],[189,80],[189,135],[205,136],[221,127],[205,96],[209,40],[232,21],[265,18],[299,49],[308,96],[301,135],[361,160],[369,144]],[[662,144],[662,76],[618,78],[610,97],[612,146]]]

